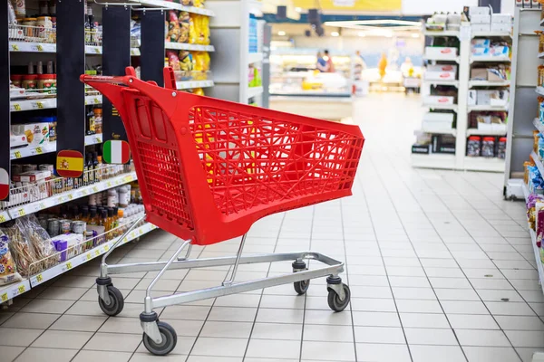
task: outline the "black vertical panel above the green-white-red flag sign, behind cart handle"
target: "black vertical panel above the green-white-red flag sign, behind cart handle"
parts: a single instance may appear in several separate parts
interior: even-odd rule
[[[102,72],[104,75],[124,75],[131,65],[131,9],[124,6],[102,8]],[[112,102],[102,97],[103,141],[127,140],[127,133]]]

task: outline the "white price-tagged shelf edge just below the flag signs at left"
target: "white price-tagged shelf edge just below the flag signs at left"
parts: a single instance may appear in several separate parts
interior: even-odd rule
[[[34,214],[40,210],[44,210],[49,207],[62,205],[64,203],[67,203],[77,198],[96,194],[115,186],[128,184],[129,182],[132,182],[136,179],[137,179],[136,173],[131,172],[126,175],[115,176],[115,177],[109,178],[108,180],[97,182],[96,184],[83,186],[71,191],[66,191],[62,194],[47,197],[47,198],[44,198],[43,200],[34,201],[33,203],[30,203],[30,204],[17,205],[5,211],[0,211],[0,224],[8,220],[14,220],[26,214]]]

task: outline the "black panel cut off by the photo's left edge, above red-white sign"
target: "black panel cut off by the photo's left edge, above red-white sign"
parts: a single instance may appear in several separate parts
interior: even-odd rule
[[[0,49],[5,62],[0,66],[0,135],[5,142],[0,142],[0,168],[4,168],[11,178],[11,159],[9,137],[11,111],[9,109],[9,38],[7,5],[0,6]]]

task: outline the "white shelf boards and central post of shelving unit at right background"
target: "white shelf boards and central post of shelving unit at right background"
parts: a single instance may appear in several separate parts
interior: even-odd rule
[[[471,66],[478,62],[510,62],[509,58],[503,57],[472,57],[471,56],[471,40],[478,37],[503,37],[510,39],[510,33],[471,33],[471,24],[461,24],[461,31],[446,31],[446,32],[423,32],[426,36],[448,36],[457,37],[460,40],[459,56],[449,57],[428,57],[426,60],[432,62],[446,62],[458,64],[458,79],[454,81],[430,81],[424,80],[426,86],[429,85],[447,85],[457,89],[457,104],[454,105],[431,105],[423,106],[429,110],[453,110],[457,114],[456,129],[425,129],[422,128],[418,132],[428,134],[450,134],[455,136],[455,155],[450,154],[430,154],[430,155],[412,155],[413,167],[428,167],[428,168],[443,168],[443,169],[458,169],[470,171],[488,171],[502,172],[505,167],[505,161],[499,158],[486,157],[467,157],[467,138],[473,135],[478,136],[494,136],[500,137],[506,135],[506,130],[493,129],[470,129],[469,116],[473,111],[508,111],[509,105],[502,107],[468,105],[468,90],[478,87],[508,87],[510,81],[471,81]],[[424,99],[424,98],[423,98]],[[510,139],[509,139],[510,140]]]

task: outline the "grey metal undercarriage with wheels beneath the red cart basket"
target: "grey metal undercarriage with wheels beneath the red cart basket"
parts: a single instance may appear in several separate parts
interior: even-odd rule
[[[309,280],[325,276],[327,276],[327,290],[329,291],[328,301],[331,309],[335,311],[341,311],[344,310],[349,303],[351,293],[347,285],[343,284],[342,279],[339,277],[339,274],[344,271],[344,262],[339,262],[320,252],[311,251],[265,253],[241,256],[244,244],[246,243],[247,234],[244,234],[242,236],[242,240],[240,242],[236,256],[189,259],[192,245],[190,241],[185,241],[181,243],[178,250],[172,254],[168,262],[136,262],[112,265],[106,263],[106,259],[112,253],[112,251],[120,245],[124,237],[128,233],[130,233],[134,226],[141,222],[144,217],[145,216],[142,216],[134,224],[132,224],[131,227],[117,240],[117,242],[113,244],[112,248],[108,252],[103,254],[102,263],[100,266],[100,277],[97,278],[96,284],[99,295],[99,303],[101,303],[102,310],[106,314],[113,316],[121,312],[123,301],[119,300],[119,298],[122,298],[121,292],[114,289],[112,284],[112,278],[110,277],[110,275],[139,271],[159,271],[157,276],[155,276],[155,278],[151,281],[150,285],[146,290],[146,295],[144,299],[144,310],[140,315],[141,328],[144,332],[144,339],[147,335],[152,339],[152,341],[154,341],[158,345],[164,342],[164,333],[160,331],[158,325],[158,316],[156,312],[153,311],[157,308],[188,303],[196,300],[207,300],[209,298],[217,298],[226,295],[241,293],[244,291],[255,291],[258,289],[270,288],[288,283],[300,283],[298,285],[298,289],[296,286],[295,290],[298,292],[298,294],[304,294],[309,286]],[[186,247],[188,247],[188,250],[185,253],[185,256],[179,257],[180,253]],[[306,262],[304,262],[305,260],[315,260],[317,262],[323,262],[326,266],[310,271],[307,269]],[[274,277],[267,277],[253,281],[235,282],[238,265],[240,264],[287,261],[293,261],[293,273],[278,275]],[[153,286],[157,283],[157,281],[160,280],[160,277],[162,277],[164,272],[167,270],[209,268],[227,265],[232,266],[232,271],[228,272],[228,274],[230,273],[230,278],[227,280],[227,275],[225,281],[223,281],[222,284],[217,287],[197,291],[179,292],[162,297],[151,297],[151,291],[153,289]],[[112,292],[112,289],[115,290],[115,292]],[[333,300],[333,304],[331,304],[331,299]],[[111,306],[113,310],[108,310],[109,306]],[[169,352],[170,351],[164,354],[167,354]]]

